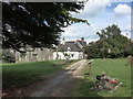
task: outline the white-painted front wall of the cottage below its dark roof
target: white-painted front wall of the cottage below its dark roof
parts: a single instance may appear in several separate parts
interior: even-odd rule
[[[83,58],[83,52],[64,52],[66,54],[73,54],[73,57],[70,59],[82,59]],[[63,55],[63,52],[58,52],[58,59],[66,59]],[[53,59],[57,59],[57,52],[53,52]]]

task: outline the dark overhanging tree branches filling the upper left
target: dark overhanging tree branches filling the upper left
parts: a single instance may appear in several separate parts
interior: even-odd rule
[[[83,2],[2,2],[2,48],[51,47],[58,44],[63,28],[75,22]],[[89,23],[88,23],[89,24]]]

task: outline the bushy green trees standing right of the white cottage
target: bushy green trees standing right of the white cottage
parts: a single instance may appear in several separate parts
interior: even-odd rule
[[[110,25],[96,34],[100,40],[91,42],[85,50],[88,58],[119,58],[133,55],[133,42],[121,34],[117,25]]]

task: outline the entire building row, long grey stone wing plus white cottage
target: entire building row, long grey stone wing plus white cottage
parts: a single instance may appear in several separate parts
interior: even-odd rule
[[[86,58],[84,47],[86,47],[84,38],[81,41],[62,41],[54,50],[51,48],[30,48],[27,53],[16,52],[16,63],[38,62],[38,61],[52,61],[52,59],[66,59],[64,54],[71,55],[70,59]]]

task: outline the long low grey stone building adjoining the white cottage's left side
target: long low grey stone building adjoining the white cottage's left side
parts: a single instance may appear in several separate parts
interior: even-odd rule
[[[27,53],[16,52],[16,63],[24,62],[38,62],[38,61],[51,61],[53,59],[52,50],[50,48],[34,48],[30,50]]]

